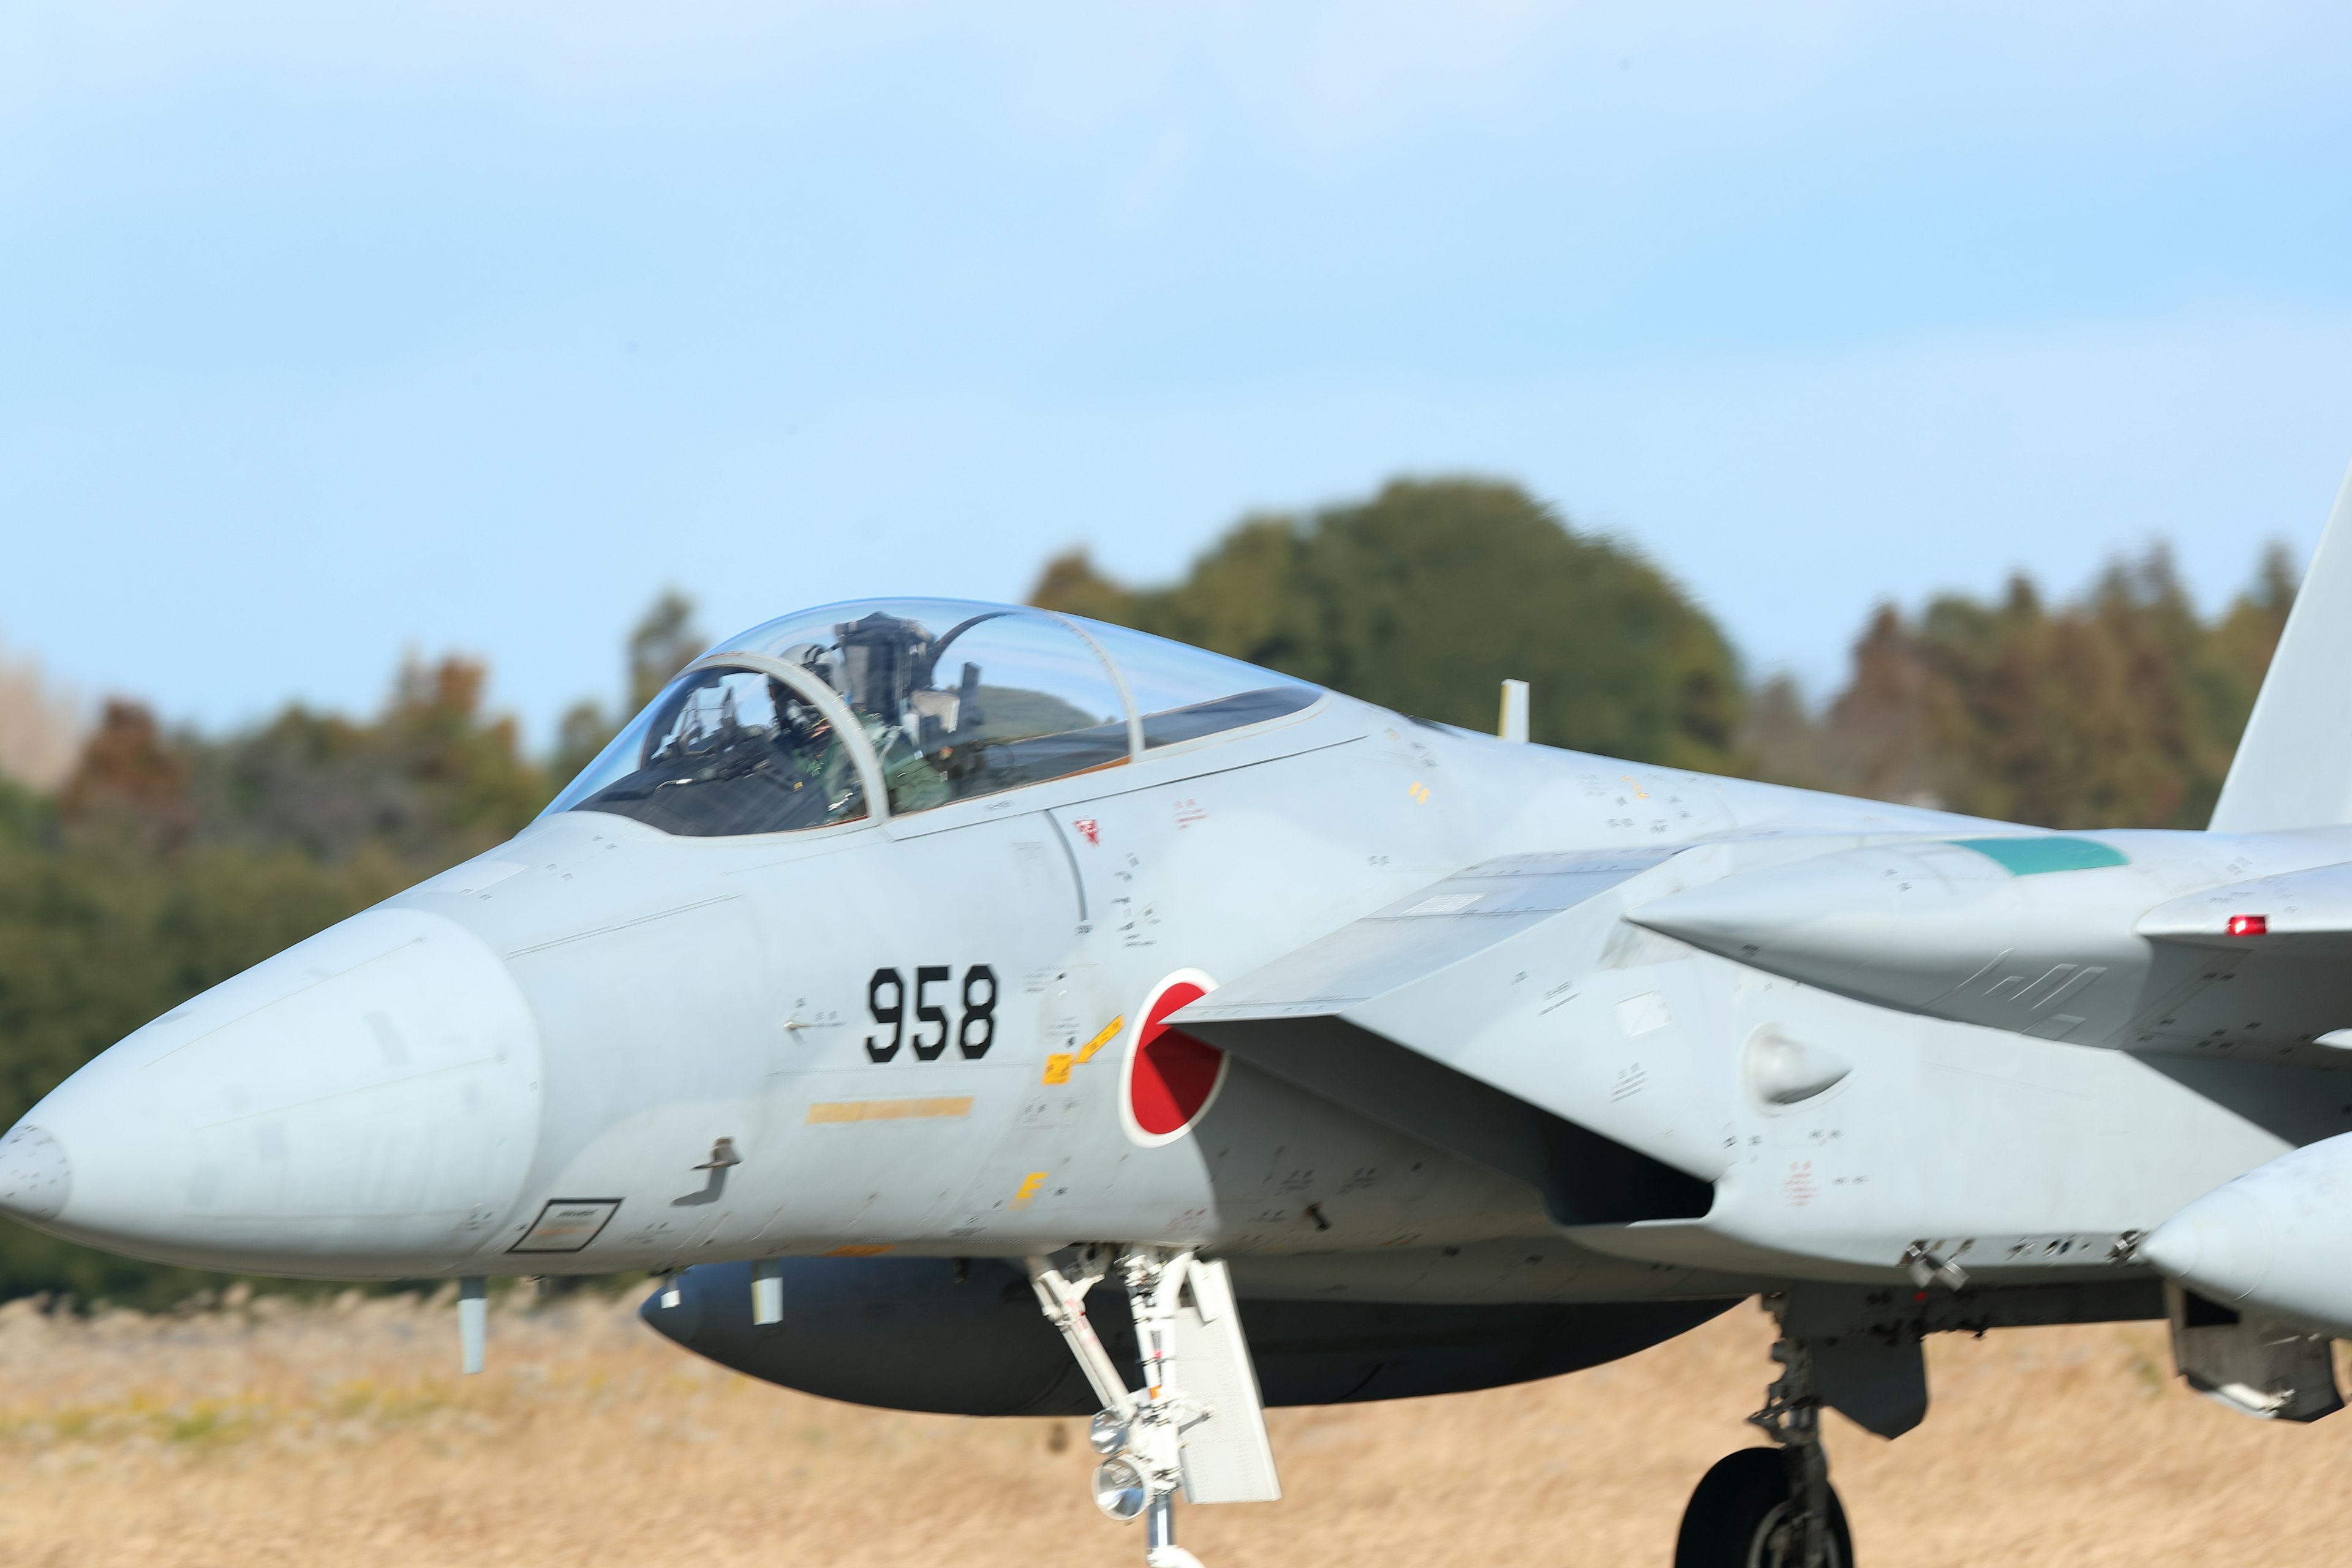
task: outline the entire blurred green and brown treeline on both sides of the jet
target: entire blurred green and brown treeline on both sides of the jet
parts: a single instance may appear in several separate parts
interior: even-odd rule
[[[1811,705],[1750,684],[1637,550],[1479,480],[1244,517],[1164,585],[1070,552],[1033,592],[1468,729],[1517,677],[1550,745],[2063,827],[2201,825],[2291,597],[2274,552],[2204,618],[2152,552],[2079,599],[2018,578],[1999,602],[1886,607]],[[61,783],[0,773],[0,1126],[195,992],[510,837],[701,644],[691,604],[656,599],[619,708],[567,712],[546,757],[485,712],[477,663],[442,658],[407,663],[372,717],[296,705],[230,736],[115,698]],[[0,1298],[153,1307],[202,1284],[0,1225]]]

